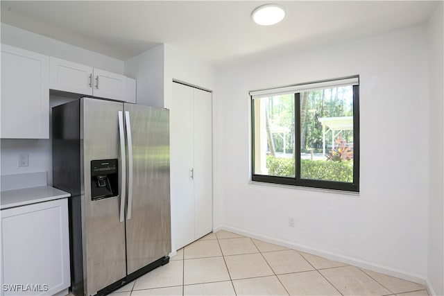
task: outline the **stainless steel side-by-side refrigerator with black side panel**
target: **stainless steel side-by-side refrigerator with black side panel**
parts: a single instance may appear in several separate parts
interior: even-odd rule
[[[71,193],[71,288],[105,295],[169,262],[169,111],[96,98],[52,110],[53,186]]]

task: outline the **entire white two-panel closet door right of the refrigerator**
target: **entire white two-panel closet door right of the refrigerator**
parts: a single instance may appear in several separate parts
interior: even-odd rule
[[[171,209],[176,250],[212,232],[212,94],[173,82]]]

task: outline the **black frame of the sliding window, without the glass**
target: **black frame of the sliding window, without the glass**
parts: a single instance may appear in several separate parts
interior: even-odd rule
[[[271,175],[255,174],[255,104],[253,96],[251,100],[251,180],[253,182],[265,182],[291,186],[303,186],[316,189],[332,189],[336,191],[359,192],[359,85],[353,85],[353,182],[338,182],[327,180],[309,180],[300,178],[300,92],[294,93],[295,100],[295,177],[278,177]],[[289,92],[291,94],[291,92]],[[297,118],[296,118],[297,116]]]

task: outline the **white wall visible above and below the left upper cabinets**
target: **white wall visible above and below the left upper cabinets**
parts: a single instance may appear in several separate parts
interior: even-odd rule
[[[123,61],[121,60],[6,24],[1,24],[1,43],[123,74]],[[50,95],[49,101],[51,108],[71,101],[71,98]],[[48,184],[52,184],[51,134],[49,139],[1,139],[0,146],[1,175],[46,171],[48,172]],[[29,166],[19,167],[19,154],[28,154]]]

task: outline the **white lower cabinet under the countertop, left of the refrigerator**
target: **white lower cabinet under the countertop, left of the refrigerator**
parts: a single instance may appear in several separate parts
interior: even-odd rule
[[[70,286],[67,198],[1,210],[1,295]]]

